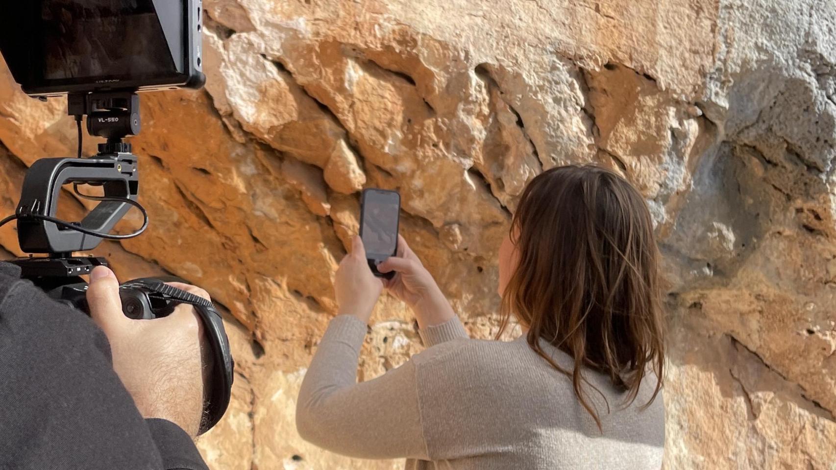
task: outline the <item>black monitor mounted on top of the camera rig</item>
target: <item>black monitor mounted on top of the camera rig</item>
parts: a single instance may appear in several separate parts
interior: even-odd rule
[[[36,96],[201,88],[201,0],[8,0],[0,53]]]

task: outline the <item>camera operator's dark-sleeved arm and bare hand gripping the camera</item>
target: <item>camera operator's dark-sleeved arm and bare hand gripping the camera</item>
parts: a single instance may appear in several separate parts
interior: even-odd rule
[[[87,300],[90,317],[0,263],[0,468],[206,470],[192,442],[209,368],[193,307],[132,320],[102,266]]]

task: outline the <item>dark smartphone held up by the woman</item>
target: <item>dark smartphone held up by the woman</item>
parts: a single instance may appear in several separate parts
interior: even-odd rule
[[[370,188],[363,190],[360,204],[360,238],[366,250],[371,272],[392,279],[395,272],[381,273],[377,265],[398,252],[400,195],[397,191]]]

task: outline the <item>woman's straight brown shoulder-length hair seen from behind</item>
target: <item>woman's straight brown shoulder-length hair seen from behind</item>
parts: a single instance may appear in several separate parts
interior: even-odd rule
[[[626,407],[651,366],[649,406],[662,385],[664,318],[653,221],[639,192],[608,169],[549,169],[523,192],[511,237],[519,263],[502,294],[500,334],[511,315],[527,326],[528,345],[572,379],[599,430],[587,386],[601,392],[584,367],[628,392]],[[559,366],[541,341],[572,356],[573,370]]]

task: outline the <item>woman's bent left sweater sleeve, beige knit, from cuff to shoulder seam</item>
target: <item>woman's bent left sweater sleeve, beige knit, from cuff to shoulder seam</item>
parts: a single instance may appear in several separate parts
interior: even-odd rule
[[[357,383],[366,329],[354,316],[331,321],[299,392],[299,435],[349,457],[428,460],[413,362]]]

